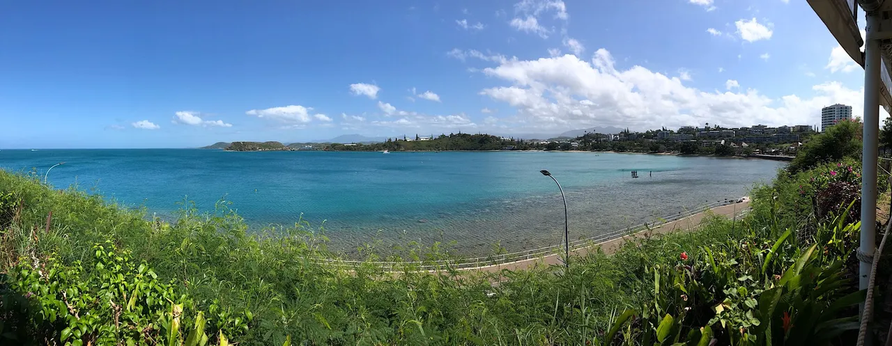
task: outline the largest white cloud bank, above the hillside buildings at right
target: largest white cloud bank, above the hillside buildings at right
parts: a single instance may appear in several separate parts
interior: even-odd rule
[[[703,91],[641,66],[619,70],[605,49],[591,61],[574,55],[512,60],[484,69],[483,74],[504,82],[480,94],[516,110],[500,119],[500,124],[511,124],[516,131],[677,128],[705,122],[729,127],[813,124],[820,120],[822,107],[833,103],[857,107],[863,95],[838,82],[813,86],[810,98],[771,97],[751,88]]]

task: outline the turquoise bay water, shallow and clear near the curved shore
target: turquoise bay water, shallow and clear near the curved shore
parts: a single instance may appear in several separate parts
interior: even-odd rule
[[[373,239],[457,241],[485,254],[559,243],[564,186],[574,239],[747,194],[776,161],[593,152],[223,152],[191,149],[0,152],[0,168],[77,184],[162,216],[220,199],[252,225],[326,220],[335,249]],[[638,170],[639,178],[630,171]],[[648,172],[653,172],[651,177]]]

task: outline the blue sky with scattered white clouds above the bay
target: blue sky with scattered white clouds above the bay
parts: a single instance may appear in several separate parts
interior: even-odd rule
[[[813,125],[833,103],[863,114],[863,70],[797,0],[21,1],[0,12],[0,148]]]

